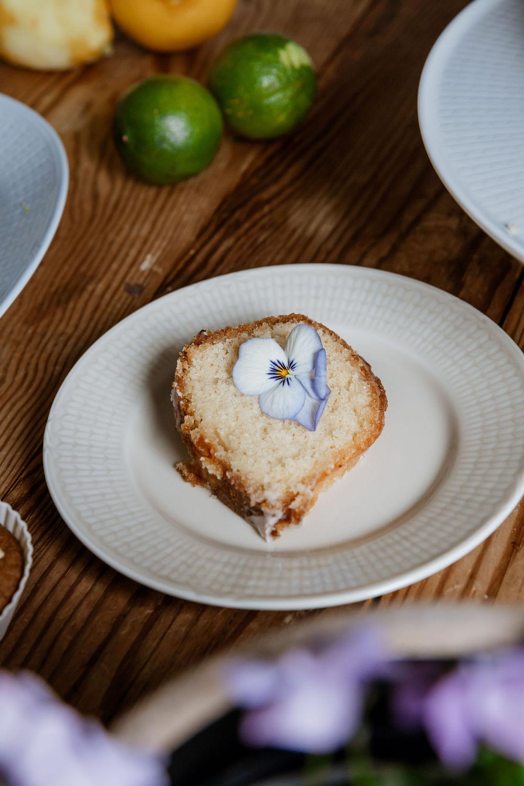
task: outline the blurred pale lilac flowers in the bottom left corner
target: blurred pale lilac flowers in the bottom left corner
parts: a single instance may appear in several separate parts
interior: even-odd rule
[[[165,786],[163,762],[125,747],[31,674],[0,670],[0,783]]]

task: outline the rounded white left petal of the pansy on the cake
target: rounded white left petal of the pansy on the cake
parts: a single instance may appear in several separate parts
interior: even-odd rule
[[[273,339],[248,339],[240,344],[238,360],[233,366],[233,382],[244,395],[260,395],[271,390],[278,381],[271,376],[273,366],[286,367],[288,359],[280,344]]]

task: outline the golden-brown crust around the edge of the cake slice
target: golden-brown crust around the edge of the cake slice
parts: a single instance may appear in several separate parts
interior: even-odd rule
[[[302,505],[291,507],[291,503],[295,500],[297,494],[290,492],[288,498],[284,499],[283,515],[280,521],[273,527],[271,533],[273,538],[277,537],[284,527],[290,524],[300,523],[306,515],[306,512],[308,512],[317,501],[318,494],[330,486],[335,479],[343,476],[348,469],[353,467],[361,455],[368,450],[368,447],[375,442],[380,432],[382,432],[384,414],[387,410],[387,397],[383,384],[379,378],[372,373],[371,366],[368,362],[366,362],[364,358],[361,358],[346,341],[341,339],[340,336],[328,329],[325,325],[321,325],[320,322],[316,322],[306,317],[304,314],[284,314],[280,317],[267,317],[255,322],[237,325],[236,327],[227,327],[214,332],[210,330],[201,330],[196,334],[193,340],[182,349],[173,383],[175,425],[191,457],[189,461],[181,462],[177,465],[177,469],[181,473],[181,476],[189,483],[192,483],[193,486],[200,485],[209,487],[211,492],[218,497],[220,501],[243,518],[261,515],[262,508],[264,507],[263,503],[255,506],[251,504],[243,480],[230,472],[225,461],[222,461],[222,459],[216,455],[213,445],[207,442],[207,440],[203,438],[200,430],[196,428],[195,413],[192,411],[192,406],[185,390],[185,373],[192,363],[195,351],[203,344],[234,338],[240,333],[262,329],[265,325],[271,328],[274,325],[285,324],[286,322],[305,322],[307,325],[311,325],[315,330],[322,329],[328,332],[336,341],[350,351],[352,358],[358,362],[362,376],[364,376],[366,382],[369,384],[375,399],[374,410],[376,411],[376,424],[374,429],[370,430],[366,435],[363,435],[361,442],[357,445],[357,450],[355,450],[355,446],[353,446],[350,456],[346,454],[346,450],[341,450],[336,457],[333,468],[326,469],[320,476],[315,476],[315,478],[312,479],[312,494]],[[201,459],[211,461],[212,464],[218,468],[218,475],[221,477],[208,472],[207,469],[203,467]]]

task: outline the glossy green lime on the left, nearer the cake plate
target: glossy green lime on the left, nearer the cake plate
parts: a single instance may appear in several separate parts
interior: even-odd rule
[[[192,79],[152,76],[120,99],[113,133],[130,171],[158,185],[176,183],[211,163],[222,115],[211,93]]]

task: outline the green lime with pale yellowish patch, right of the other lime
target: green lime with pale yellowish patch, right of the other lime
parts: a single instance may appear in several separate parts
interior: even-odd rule
[[[302,46],[283,35],[257,33],[222,50],[211,68],[210,86],[235,134],[269,139],[304,119],[316,79]]]

